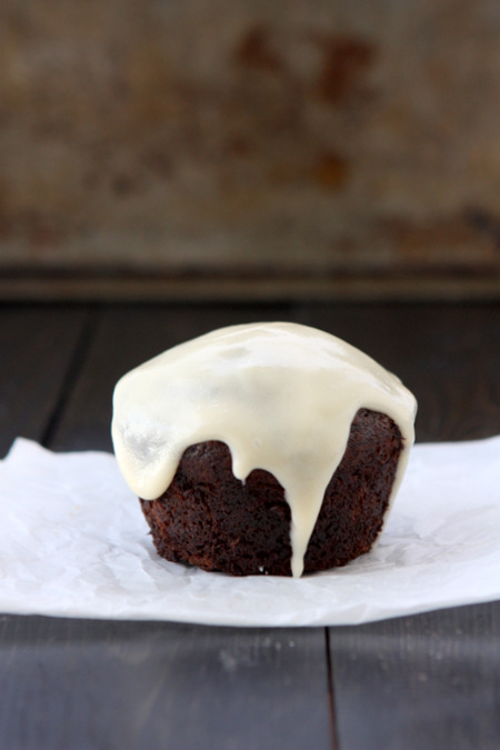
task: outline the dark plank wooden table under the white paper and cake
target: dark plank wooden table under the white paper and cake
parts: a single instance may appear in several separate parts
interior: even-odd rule
[[[500,432],[499,304],[0,307],[0,442],[111,450],[111,392],[207,330],[293,320],[396,371],[420,441]],[[500,540],[499,540],[500,543]],[[362,627],[0,618],[0,748],[500,747],[500,604]]]

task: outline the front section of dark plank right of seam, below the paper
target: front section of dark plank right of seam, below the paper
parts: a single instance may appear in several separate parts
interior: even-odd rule
[[[339,747],[498,750],[500,602],[330,629]]]

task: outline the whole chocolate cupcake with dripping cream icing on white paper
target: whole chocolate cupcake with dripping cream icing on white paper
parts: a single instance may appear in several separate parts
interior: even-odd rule
[[[416,408],[396,376],[340,339],[256,323],[121,378],[112,438],[160,556],[299,577],[371,549],[408,463]]]

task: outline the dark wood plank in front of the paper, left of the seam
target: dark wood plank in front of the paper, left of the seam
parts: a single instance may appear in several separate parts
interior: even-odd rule
[[[0,747],[330,748],[322,630],[0,621]]]

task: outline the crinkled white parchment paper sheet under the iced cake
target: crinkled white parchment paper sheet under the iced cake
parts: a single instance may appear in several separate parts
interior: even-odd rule
[[[500,436],[419,444],[376,549],[302,579],[160,559],[108,453],[18,439],[0,461],[0,611],[229,626],[352,624],[500,598]]]

